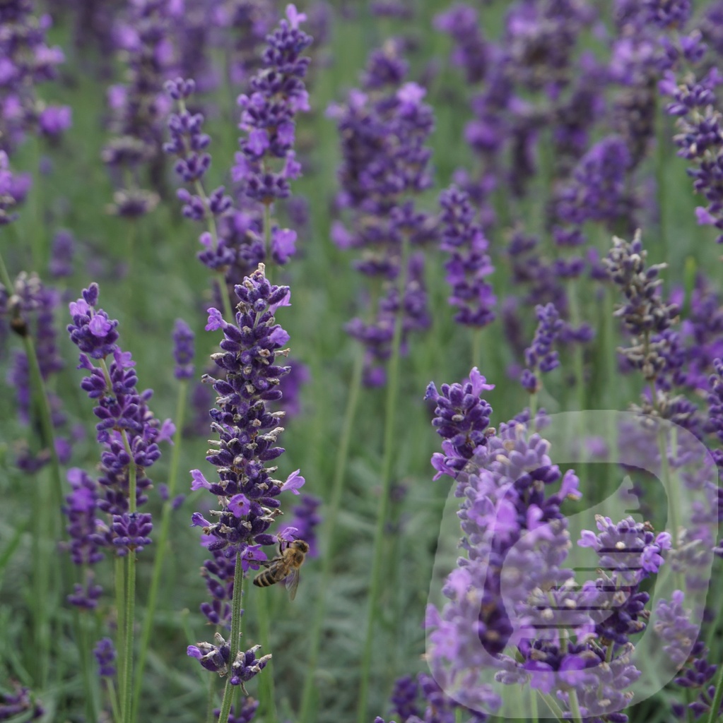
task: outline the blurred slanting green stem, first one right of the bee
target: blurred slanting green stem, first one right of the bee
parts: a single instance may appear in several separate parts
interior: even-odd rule
[[[354,359],[352,380],[347,408],[344,411],[344,422],[342,422],[342,433],[339,437],[337,447],[337,462],[334,468],[334,482],[331,485],[331,502],[326,511],[326,548],[324,549],[324,560],[321,566],[321,583],[317,588],[316,605],[314,606],[313,626],[311,629],[310,650],[306,666],[306,677],[304,679],[304,691],[301,698],[302,723],[311,723],[314,693],[314,675],[318,662],[319,647],[321,646],[321,628],[326,617],[326,591],[329,589],[331,578],[331,562],[334,559],[334,533],[337,529],[337,518],[339,508],[342,505],[342,493],[344,492],[344,477],[347,471],[347,460],[349,458],[349,445],[352,439],[352,429],[360,397],[362,375],[364,370],[364,354],[360,348]]]

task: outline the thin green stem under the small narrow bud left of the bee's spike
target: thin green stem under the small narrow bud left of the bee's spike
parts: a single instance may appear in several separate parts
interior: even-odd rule
[[[158,602],[158,589],[161,586],[161,573],[169,552],[169,534],[171,531],[171,516],[173,513],[173,499],[178,482],[178,468],[181,458],[183,442],[183,422],[186,411],[186,397],[188,381],[180,380],[178,385],[178,399],[176,401],[176,433],[173,437],[173,450],[168,473],[168,499],[164,502],[161,511],[161,531],[158,534],[158,555],[153,560],[153,573],[151,574],[151,589],[148,591],[148,603],[145,607],[143,628],[140,633],[140,650],[138,652],[138,665],[135,673],[135,688],[133,689],[133,720],[138,719],[138,705],[140,703],[140,690],[143,686],[143,671],[148,648],[151,643],[153,620],[156,617],[156,604]]]

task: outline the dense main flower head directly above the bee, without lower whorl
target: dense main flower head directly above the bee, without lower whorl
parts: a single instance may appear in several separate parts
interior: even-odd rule
[[[218,522],[208,523],[195,513],[193,523],[213,538],[208,549],[224,550],[229,558],[237,552],[245,555],[254,544],[275,544],[274,536],[266,534],[276,516],[273,510],[279,508],[275,498],[283,489],[303,484],[298,471],[282,484],[266,467],[284,452],[276,446],[284,413],[272,414],[266,405],[280,398],[279,377],[288,372],[288,367],[274,364],[277,356],[285,354],[284,344],[289,340],[275,323],[274,313],[289,304],[289,287],[272,286],[261,265],[235,290],[240,299],[236,324],[224,321],[218,309],[212,308],[206,326],[224,332],[222,351],[212,359],[226,378],[205,377],[213,384],[220,407],[211,410],[211,428],[220,437],[214,444],[218,449],[207,457],[218,468],[219,481],[208,482],[199,470],[193,470],[191,487],[208,489],[221,500],[224,509],[217,515]]]

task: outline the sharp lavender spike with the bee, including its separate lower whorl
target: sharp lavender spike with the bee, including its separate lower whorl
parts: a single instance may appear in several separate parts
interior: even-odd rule
[[[193,526],[203,529],[202,544],[213,554],[213,560],[203,565],[213,603],[204,603],[201,609],[211,623],[230,627],[232,637],[227,641],[219,635],[215,643],[198,643],[187,653],[206,669],[229,674],[231,685],[243,685],[271,656],[258,658],[258,646],[244,652],[234,640],[233,631],[240,624],[232,617],[234,605],[241,614],[236,583],[249,567],[258,568],[258,562],[266,559],[260,547],[278,544],[268,532],[280,513],[278,497],[287,489],[298,494],[304,479],[297,470],[282,482],[273,476],[276,466],[269,466],[284,453],[276,446],[284,412],[270,412],[268,405],[281,397],[279,379],[289,373],[289,367],[277,364],[279,356],[288,354],[289,335],[274,318],[276,309],[289,305],[289,287],[272,286],[260,264],[235,287],[235,293],[240,303],[234,323],[211,308],[206,326],[208,331],[224,333],[221,351],[211,356],[224,378],[204,377],[217,394],[217,406],[210,414],[211,429],[219,438],[211,442],[213,449],[206,459],[216,466],[219,479],[209,482],[200,470],[191,471],[191,489],[208,489],[219,504],[211,512],[213,521],[200,513],[192,517]]]

